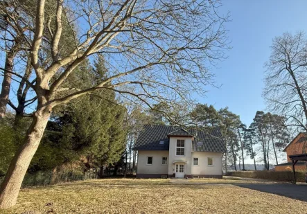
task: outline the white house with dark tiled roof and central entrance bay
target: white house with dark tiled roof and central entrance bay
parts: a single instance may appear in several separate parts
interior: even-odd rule
[[[225,142],[219,128],[210,134],[176,126],[145,125],[134,150],[137,177],[222,178]]]

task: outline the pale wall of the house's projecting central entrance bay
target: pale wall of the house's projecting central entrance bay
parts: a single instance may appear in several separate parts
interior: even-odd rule
[[[176,156],[177,139],[184,139],[184,157]],[[175,173],[174,161],[186,161],[184,164],[184,174],[191,175],[191,150],[192,137],[177,137],[170,136],[169,161],[168,161],[168,175],[172,176]]]

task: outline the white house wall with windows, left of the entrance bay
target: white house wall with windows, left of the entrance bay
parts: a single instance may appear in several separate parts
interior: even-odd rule
[[[168,165],[162,165],[162,157],[168,157],[168,151],[139,150],[137,159],[137,174],[167,174]],[[152,157],[152,165],[147,165],[147,157]]]

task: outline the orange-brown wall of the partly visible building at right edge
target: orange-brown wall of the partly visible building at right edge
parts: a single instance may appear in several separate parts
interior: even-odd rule
[[[301,133],[288,145],[288,148],[286,148],[288,162],[291,162],[289,155],[307,152],[307,141],[305,139],[306,134]]]

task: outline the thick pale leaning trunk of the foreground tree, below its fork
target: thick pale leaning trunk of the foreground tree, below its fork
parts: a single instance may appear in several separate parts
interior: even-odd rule
[[[9,208],[16,204],[24,175],[26,175],[30,161],[40,145],[50,114],[51,112],[46,107],[35,112],[24,143],[12,159],[6,177],[1,184],[0,208]]]

